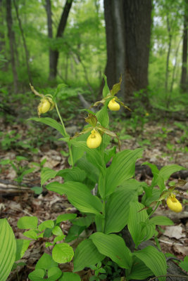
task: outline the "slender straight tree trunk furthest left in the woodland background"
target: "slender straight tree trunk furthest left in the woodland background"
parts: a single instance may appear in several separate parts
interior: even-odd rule
[[[12,30],[13,20],[12,20],[12,13],[11,13],[11,0],[6,0],[6,22],[8,27],[8,39],[11,51],[11,67],[13,71],[13,86],[15,93],[18,92],[18,75],[15,68],[15,36]]]

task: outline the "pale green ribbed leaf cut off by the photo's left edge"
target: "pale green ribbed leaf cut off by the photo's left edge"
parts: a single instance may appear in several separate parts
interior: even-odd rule
[[[15,237],[6,218],[0,219],[0,280],[6,281],[15,261]]]

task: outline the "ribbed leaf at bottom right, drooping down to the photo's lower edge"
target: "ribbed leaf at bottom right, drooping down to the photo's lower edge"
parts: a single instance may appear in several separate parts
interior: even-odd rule
[[[154,275],[166,275],[167,264],[165,256],[158,249],[148,246],[140,251],[134,252],[134,256],[137,256],[137,258],[143,261]],[[165,277],[158,277],[158,280],[165,281]]]

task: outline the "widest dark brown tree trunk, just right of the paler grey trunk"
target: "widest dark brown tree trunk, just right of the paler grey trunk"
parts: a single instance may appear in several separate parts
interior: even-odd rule
[[[144,105],[148,105],[146,88],[148,86],[152,2],[151,0],[126,0],[123,9],[126,34],[126,99],[132,100],[134,91],[144,90],[140,99]]]

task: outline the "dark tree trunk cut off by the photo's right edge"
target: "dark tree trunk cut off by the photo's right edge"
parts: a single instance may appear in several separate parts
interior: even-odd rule
[[[184,31],[183,31],[183,49],[182,49],[182,75],[180,87],[182,92],[186,92],[187,85],[187,28],[188,28],[188,0],[185,0],[184,7]]]

